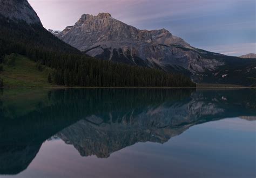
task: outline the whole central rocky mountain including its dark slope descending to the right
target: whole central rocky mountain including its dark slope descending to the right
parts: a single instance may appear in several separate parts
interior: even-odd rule
[[[198,83],[255,83],[255,61],[192,47],[165,29],[139,30],[109,13],[82,15],[56,36],[99,59],[180,72]]]

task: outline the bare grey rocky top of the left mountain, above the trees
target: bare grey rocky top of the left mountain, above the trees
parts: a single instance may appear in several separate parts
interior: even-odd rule
[[[42,25],[36,12],[27,0],[0,0],[0,14],[15,21]]]

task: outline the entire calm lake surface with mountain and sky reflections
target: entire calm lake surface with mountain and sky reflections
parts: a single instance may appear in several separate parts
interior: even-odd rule
[[[0,90],[0,177],[256,177],[256,90]]]

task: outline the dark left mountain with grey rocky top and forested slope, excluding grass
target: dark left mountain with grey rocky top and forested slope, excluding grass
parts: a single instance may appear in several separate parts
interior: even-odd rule
[[[27,0],[1,0],[0,2],[1,86],[3,80],[4,86],[9,86],[10,83],[21,83],[21,86],[28,87],[19,76],[15,79],[11,76],[11,71],[14,71],[17,68],[15,65],[18,65],[15,61],[23,57],[32,60],[30,67],[38,66],[40,71],[47,67],[51,68],[49,70],[51,72],[44,75],[42,80],[47,82],[48,78],[52,79],[49,80],[52,86],[56,84],[71,87],[196,86],[184,75],[91,58],[44,29]],[[15,56],[18,57],[15,58]],[[9,65],[10,61],[12,65]],[[24,72],[24,70],[19,70],[18,74],[28,76],[26,78],[35,74],[22,74],[20,71]]]

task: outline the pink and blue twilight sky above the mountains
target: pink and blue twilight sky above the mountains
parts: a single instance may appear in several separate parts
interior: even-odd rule
[[[63,30],[85,13],[109,12],[138,29],[167,29],[194,47],[256,53],[256,0],[28,0],[46,29]]]

